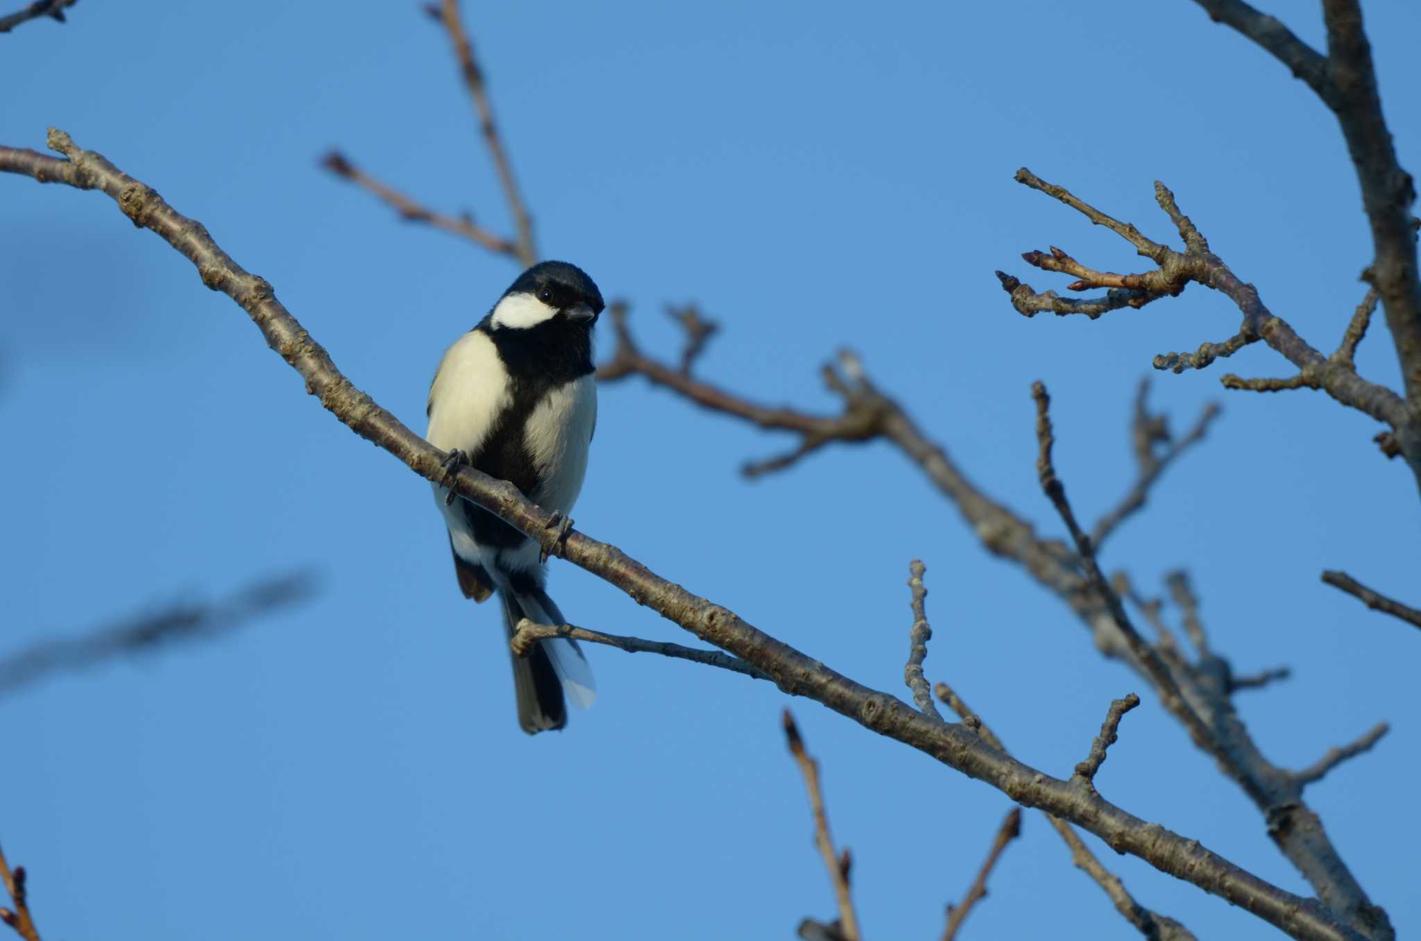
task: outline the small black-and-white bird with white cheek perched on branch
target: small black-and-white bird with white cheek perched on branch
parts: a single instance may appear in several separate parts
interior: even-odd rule
[[[523,271],[439,361],[426,409],[429,443],[450,452],[452,465],[468,461],[566,519],[597,426],[593,327],[603,307],[597,284],[577,266],[543,262]],[[441,485],[435,500],[466,598],[485,601],[496,591],[510,638],[523,617],[566,623],[544,588],[537,542],[469,500],[450,502]],[[513,688],[529,735],[567,725],[564,692],[581,708],[595,697],[583,651],[560,637],[513,657]]]

